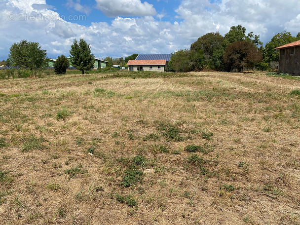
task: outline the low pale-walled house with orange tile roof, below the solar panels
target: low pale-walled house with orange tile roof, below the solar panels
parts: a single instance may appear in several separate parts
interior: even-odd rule
[[[166,60],[129,60],[127,63],[129,71],[152,71],[165,72]]]

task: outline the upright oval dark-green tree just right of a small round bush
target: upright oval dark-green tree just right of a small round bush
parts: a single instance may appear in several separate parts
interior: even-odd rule
[[[74,40],[70,50],[71,64],[84,74],[94,67],[95,57],[92,54],[90,45],[83,38],[79,42]]]

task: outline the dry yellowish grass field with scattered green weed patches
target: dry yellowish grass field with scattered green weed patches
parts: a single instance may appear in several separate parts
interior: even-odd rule
[[[1,225],[299,225],[300,80],[0,80]]]

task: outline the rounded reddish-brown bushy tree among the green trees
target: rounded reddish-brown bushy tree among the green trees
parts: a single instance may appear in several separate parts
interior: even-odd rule
[[[244,40],[228,45],[223,59],[228,66],[228,71],[236,69],[238,72],[242,72],[244,67],[251,68],[263,58],[254,43]]]

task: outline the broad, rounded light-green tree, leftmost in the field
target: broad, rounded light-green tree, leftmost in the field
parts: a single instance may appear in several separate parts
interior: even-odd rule
[[[8,60],[13,66],[29,68],[36,76],[39,69],[47,66],[47,51],[38,42],[21,40],[10,46]]]

